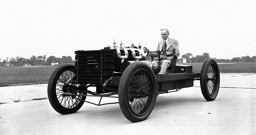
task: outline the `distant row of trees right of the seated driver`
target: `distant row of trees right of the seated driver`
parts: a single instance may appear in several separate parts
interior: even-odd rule
[[[202,63],[205,59],[209,58],[210,54],[208,53],[203,53],[202,55],[196,55],[195,57],[191,53],[187,53],[181,56],[179,61],[182,63],[183,58],[186,58],[187,63]],[[214,58],[217,62],[219,63],[224,63],[224,62],[256,62],[256,56],[241,56],[241,57],[235,57],[231,60],[229,59],[216,59]]]

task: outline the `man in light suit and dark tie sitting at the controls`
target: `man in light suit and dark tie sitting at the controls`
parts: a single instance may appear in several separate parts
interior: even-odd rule
[[[167,52],[161,52],[160,54],[162,65],[159,74],[166,74],[166,69],[171,65],[172,59],[175,59],[180,55],[179,43],[178,40],[169,38],[169,31],[166,28],[161,29],[161,36],[163,40],[158,42],[156,51]],[[144,47],[143,50],[144,52],[149,51],[147,47]],[[158,56],[158,53],[149,51],[149,55],[156,57]]]

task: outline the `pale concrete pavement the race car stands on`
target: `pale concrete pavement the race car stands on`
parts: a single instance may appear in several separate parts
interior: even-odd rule
[[[49,104],[47,84],[0,87],[0,134],[256,134],[255,80],[256,74],[221,74],[215,101],[206,101],[195,81],[192,88],[160,94],[149,118],[138,123],[128,121],[118,104],[85,103],[77,113],[60,115]],[[10,99],[17,94],[21,102]],[[103,99],[108,101],[117,99]]]

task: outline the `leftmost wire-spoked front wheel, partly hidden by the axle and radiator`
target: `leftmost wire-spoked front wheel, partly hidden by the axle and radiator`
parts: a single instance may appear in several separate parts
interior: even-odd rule
[[[63,88],[64,82],[72,78],[75,73],[74,64],[63,64],[57,67],[48,81],[48,99],[51,106],[62,115],[72,114],[82,106],[86,96],[63,96],[62,94],[72,94],[70,88]],[[71,80],[72,81],[72,80]],[[69,81],[70,82],[70,81]],[[77,93],[83,94],[83,93]],[[86,93],[85,93],[86,94]]]

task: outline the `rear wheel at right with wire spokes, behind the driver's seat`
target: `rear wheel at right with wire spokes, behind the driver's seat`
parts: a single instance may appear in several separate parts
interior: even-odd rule
[[[217,62],[208,58],[201,67],[200,85],[204,98],[207,101],[214,101],[220,88],[220,71]]]

